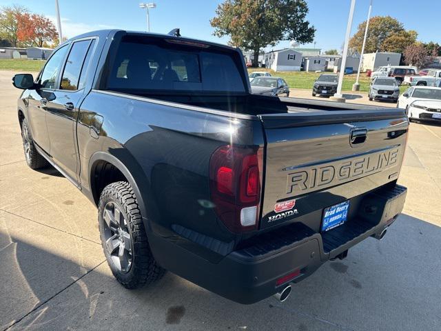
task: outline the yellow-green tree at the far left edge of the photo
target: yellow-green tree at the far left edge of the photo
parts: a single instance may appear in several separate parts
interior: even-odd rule
[[[20,17],[26,13],[28,13],[28,10],[19,5],[2,7],[0,10],[0,38],[9,41],[12,47],[18,46],[18,22]]]

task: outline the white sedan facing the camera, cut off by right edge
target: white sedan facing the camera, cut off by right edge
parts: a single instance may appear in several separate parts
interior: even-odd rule
[[[441,122],[441,88],[415,86],[408,88],[398,99],[398,108],[406,110],[413,119]]]

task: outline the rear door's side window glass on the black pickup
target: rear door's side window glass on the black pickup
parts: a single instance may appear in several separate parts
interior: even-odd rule
[[[78,90],[81,69],[85,62],[91,40],[76,41],[70,49],[68,60],[64,66],[61,77],[61,90]]]

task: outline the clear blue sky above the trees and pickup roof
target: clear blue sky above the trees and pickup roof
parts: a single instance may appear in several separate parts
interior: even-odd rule
[[[167,33],[181,28],[186,37],[227,43],[227,38],[212,35],[209,19],[220,0],[154,0],[157,8],[151,10],[152,32]],[[74,37],[89,30],[123,28],[145,30],[145,10],[138,6],[139,0],[59,0],[63,34]],[[345,37],[350,0],[308,0],[309,21],[316,27],[316,47],[322,50],[340,50]],[[12,3],[28,7],[32,12],[55,18],[54,0],[0,0],[0,6]],[[359,23],[365,21],[369,0],[357,0],[353,17],[352,33]],[[440,0],[373,0],[373,15],[391,15],[404,23],[404,28],[416,30],[421,41],[441,43],[439,16]],[[281,42],[275,48],[283,48]],[[305,47],[311,47],[309,44]]]

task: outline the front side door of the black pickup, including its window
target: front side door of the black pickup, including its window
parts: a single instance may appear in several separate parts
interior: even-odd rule
[[[54,97],[53,91],[68,48],[67,45],[63,46],[52,54],[52,57],[50,57],[37,79],[39,88],[30,90],[28,97],[28,122],[32,132],[32,139],[47,153],[50,150],[50,142],[48,128],[46,127],[46,111],[48,102]]]

